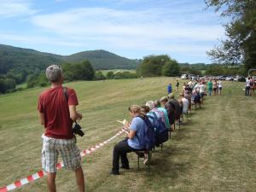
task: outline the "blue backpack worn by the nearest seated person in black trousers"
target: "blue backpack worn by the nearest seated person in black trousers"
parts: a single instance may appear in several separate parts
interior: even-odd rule
[[[154,126],[149,121],[148,117],[138,116],[139,118],[143,119],[146,123],[146,129],[142,130],[140,133],[140,137],[137,136],[137,139],[143,148],[149,150],[154,147],[155,143],[155,133],[154,133]]]

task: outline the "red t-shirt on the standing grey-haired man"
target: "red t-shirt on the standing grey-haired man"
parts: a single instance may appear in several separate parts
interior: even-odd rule
[[[55,87],[44,90],[38,99],[38,110],[44,113],[44,135],[59,139],[73,138],[69,105],[78,105],[78,98],[73,89],[67,88],[67,98],[63,93],[63,87]]]

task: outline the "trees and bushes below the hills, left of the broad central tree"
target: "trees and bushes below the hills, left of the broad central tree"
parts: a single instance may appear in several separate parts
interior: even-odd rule
[[[103,80],[103,79],[133,79],[137,78],[136,73],[128,71],[113,73],[108,72],[106,75],[102,71],[96,71],[90,61],[66,62],[61,64],[64,79],[66,82],[77,80]],[[45,70],[45,69],[44,69]],[[45,76],[44,70],[38,68],[32,73],[15,73],[15,70],[7,74],[0,75],[0,94],[11,93],[17,90],[29,89],[36,86],[47,86],[49,80]],[[27,74],[27,75],[26,75]],[[26,82],[26,87],[16,88],[17,84]]]

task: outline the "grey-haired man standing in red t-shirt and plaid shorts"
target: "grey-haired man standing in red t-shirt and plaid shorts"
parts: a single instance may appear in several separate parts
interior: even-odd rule
[[[63,75],[61,67],[49,66],[46,77],[51,83],[49,90],[44,90],[38,99],[38,112],[41,125],[44,125],[44,144],[42,150],[42,166],[47,177],[49,192],[55,192],[55,176],[58,154],[67,170],[76,175],[79,191],[84,192],[84,172],[80,165],[81,156],[73,135],[73,121],[82,119],[76,111],[79,104],[73,89],[62,87]]]

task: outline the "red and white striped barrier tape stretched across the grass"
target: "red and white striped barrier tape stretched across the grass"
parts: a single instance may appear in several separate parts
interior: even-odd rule
[[[88,149],[82,151],[81,156],[84,157],[88,154],[93,153],[96,149],[101,148],[102,146],[109,143],[115,137],[118,137],[119,135],[121,135],[124,132],[125,132],[125,130],[122,129],[122,131],[119,131],[117,134],[115,134],[113,137],[109,138],[105,142],[96,144],[95,147],[91,147],[91,148],[88,148]],[[63,166],[64,166],[63,161],[61,161],[60,163],[57,164],[57,170],[61,169]],[[44,172],[43,170],[41,170],[41,171],[36,172],[28,177],[21,178],[19,181],[16,181],[15,183],[11,183],[3,188],[0,188],[0,192],[6,192],[6,191],[10,191],[10,190],[19,188],[27,183],[32,183],[33,181],[37,180],[38,178],[42,178],[42,177],[46,176],[47,174],[48,174],[47,172]]]

